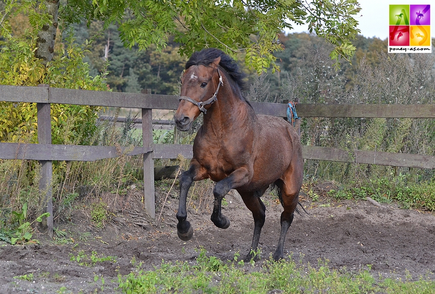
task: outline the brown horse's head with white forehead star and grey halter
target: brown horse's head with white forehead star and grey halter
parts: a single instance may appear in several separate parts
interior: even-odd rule
[[[180,102],[174,114],[175,126],[180,131],[188,131],[193,121],[201,114],[207,113],[216,100],[221,85],[218,71],[220,57],[209,65],[192,65],[181,77]]]

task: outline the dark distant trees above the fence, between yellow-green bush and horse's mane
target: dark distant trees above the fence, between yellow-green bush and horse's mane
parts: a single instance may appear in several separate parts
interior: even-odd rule
[[[88,27],[82,23],[74,28],[79,43],[97,36],[92,49],[86,52],[86,60],[91,71],[97,73],[107,58],[107,84],[112,91],[140,93],[141,89],[151,89],[155,94],[179,94],[179,78],[187,58],[180,56],[173,38],[161,50],[156,50],[155,45],[146,50],[138,50],[137,45],[126,49],[115,25],[102,30],[101,21],[92,21]]]

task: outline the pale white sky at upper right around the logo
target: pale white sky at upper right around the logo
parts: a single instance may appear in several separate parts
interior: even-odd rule
[[[385,40],[389,32],[390,4],[431,4],[431,38],[435,37],[435,1],[434,0],[358,0],[361,11],[355,16],[359,22],[357,28],[366,38],[377,37]],[[294,26],[290,33],[307,32],[308,26]]]

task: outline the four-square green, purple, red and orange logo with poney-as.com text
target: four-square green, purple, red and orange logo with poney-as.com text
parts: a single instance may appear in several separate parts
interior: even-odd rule
[[[432,53],[431,5],[390,5],[389,53]]]

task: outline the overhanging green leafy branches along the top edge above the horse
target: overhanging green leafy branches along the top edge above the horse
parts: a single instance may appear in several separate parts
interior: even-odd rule
[[[359,32],[353,18],[356,0],[69,0],[60,9],[68,23],[104,21],[116,24],[121,40],[132,48],[166,47],[170,37],[181,44],[179,53],[190,55],[206,47],[223,49],[233,57],[245,53],[245,62],[258,73],[273,69],[273,52],[282,50],[279,33],[295,24],[309,29],[333,45],[330,54],[339,65],[355,48],[350,40]]]

